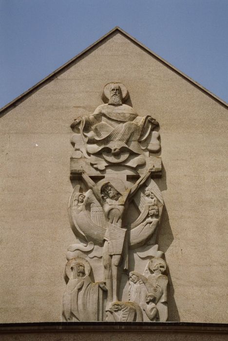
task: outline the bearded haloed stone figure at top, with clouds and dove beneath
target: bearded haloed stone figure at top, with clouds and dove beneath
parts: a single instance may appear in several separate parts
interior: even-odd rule
[[[132,107],[123,103],[128,91],[121,83],[107,84],[103,95],[108,103],[98,106],[94,114],[78,117],[72,123],[72,130],[80,133],[80,138],[74,135],[71,140],[75,150],[90,157],[91,164],[99,170],[104,170],[107,163],[125,162],[132,154],[133,166],[144,164],[145,150],[160,150],[159,133],[153,132],[152,136],[158,122],[149,115],[138,116]],[[78,152],[76,155],[80,157]]]

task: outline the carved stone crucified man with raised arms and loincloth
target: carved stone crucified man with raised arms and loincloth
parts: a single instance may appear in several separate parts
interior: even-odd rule
[[[108,303],[118,301],[119,278],[118,270],[123,256],[126,228],[124,228],[124,216],[128,204],[136,191],[150,177],[153,168],[141,176],[129,189],[119,192],[110,182],[105,182],[101,187],[83,171],[84,183],[92,189],[95,198],[103,208],[107,229],[103,246],[104,281],[108,289]]]

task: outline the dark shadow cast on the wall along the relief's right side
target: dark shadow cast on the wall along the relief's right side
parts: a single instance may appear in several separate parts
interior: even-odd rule
[[[155,179],[156,184],[158,185],[159,189],[163,192],[167,190],[167,181],[166,181],[166,169],[162,164],[162,177],[160,179]],[[158,245],[159,249],[164,253],[167,252],[169,247],[173,241],[173,234],[171,230],[170,220],[169,220],[169,213],[167,208],[164,207],[164,213],[162,218],[162,224],[160,228],[159,240]],[[169,267],[169,264],[168,264]],[[180,322],[180,315],[178,313],[177,305],[174,298],[174,286],[171,279],[171,273],[168,273],[169,278],[169,296],[168,296],[168,307],[169,307],[169,318],[168,320],[171,322]]]

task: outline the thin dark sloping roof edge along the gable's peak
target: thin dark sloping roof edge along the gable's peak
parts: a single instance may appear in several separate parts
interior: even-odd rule
[[[45,78],[41,79],[38,83],[36,83],[34,86],[32,86],[31,88],[29,88],[28,90],[26,90],[25,92],[23,92],[21,95],[19,95],[18,97],[16,97],[15,99],[13,99],[11,102],[9,102],[8,104],[6,104],[4,107],[0,108],[0,114],[2,114],[5,110],[9,109],[11,106],[16,106],[16,103],[19,102],[21,99],[23,99],[23,97],[25,97],[26,95],[28,95],[29,93],[33,92],[36,88],[38,88],[41,84],[45,83],[45,81],[51,79],[53,76],[57,75],[58,72],[62,71],[64,68],[66,68],[67,66],[69,66],[71,63],[73,63],[77,58],[83,56],[86,52],[88,52],[90,49],[92,49],[96,44],[100,43],[102,40],[104,40],[105,38],[107,38],[108,36],[112,35],[114,32],[119,31],[121,34],[123,34],[124,36],[126,36],[127,38],[129,38],[130,40],[132,40],[134,43],[136,43],[137,45],[139,45],[141,48],[143,48],[146,52],[149,52],[153,57],[155,57],[156,59],[158,59],[160,62],[162,62],[164,65],[166,65],[167,67],[169,67],[170,69],[172,69],[175,73],[179,74],[180,76],[182,76],[183,78],[185,78],[187,81],[189,81],[190,83],[192,83],[194,86],[196,86],[198,89],[200,89],[201,91],[203,91],[206,95],[209,95],[210,97],[212,97],[214,100],[216,100],[217,102],[219,102],[220,104],[222,104],[223,106],[228,108],[228,103],[225,102],[223,99],[219,98],[218,96],[214,95],[213,93],[211,93],[208,89],[206,89],[205,87],[203,87],[201,84],[197,83],[194,79],[190,78],[189,76],[187,76],[186,74],[184,74],[183,72],[181,72],[180,70],[178,70],[177,68],[175,68],[171,63],[169,63],[167,60],[163,59],[162,57],[158,56],[156,53],[154,53],[152,50],[150,50],[147,46],[145,46],[144,44],[142,44],[140,41],[138,41],[137,39],[133,38],[130,34],[128,34],[127,32],[125,32],[123,29],[121,29],[119,26],[115,26],[111,31],[107,32],[104,36],[102,36],[101,38],[99,38],[98,40],[96,40],[93,44],[89,45],[86,49],[84,49],[83,51],[81,51],[79,54],[77,54],[75,57],[71,58],[70,60],[68,60],[66,63],[64,63],[62,66],[60,66],[59,68],[57,68],[55,71],[53,71],[51,74],[49,74],[48,76],[46,76]]]

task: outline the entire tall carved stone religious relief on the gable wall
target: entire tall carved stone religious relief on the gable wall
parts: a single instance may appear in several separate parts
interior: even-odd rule
[[[109,83],[108,103],[71,125],[77,176],[68,211],[76,243],[66,255],[63,321],[168,318],[167,265],[156,244],[164,202],[152,180],[158,123],[123,104],[127,97],[123,84]]]

